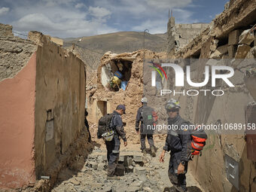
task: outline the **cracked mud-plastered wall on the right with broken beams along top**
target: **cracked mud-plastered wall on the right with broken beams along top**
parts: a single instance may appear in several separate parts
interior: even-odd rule
[[[253,17],[254,15],[254,17]],[[181,116],[194,123],[246,123],[245,107],[255,100],[256,54],[254,28],[256,2],[237,0],[230,4],[214,23],[194,38],[172,58],[221,59],[215,62],[194,63],[191,81],[202,82],[204,66],[232,66],[235,74],[230,81],[235,87],[220,83],[224,96],[179,96]],[[233,59],[236,58],[236,59]],[[173,87],[172,87],[173,88]],[[204,88],[212,89],[210,86]],[[186,85],[185,90],[195,89]],[[190,169],[207,191],[238,191],[227,180],[227,156],[239,165],[239,191],[256,190],[255,163],[247,158],[243,133],[230,135],[209,133],[202,157],[195,157]],[[212,166],[214,165],[214,166]]]

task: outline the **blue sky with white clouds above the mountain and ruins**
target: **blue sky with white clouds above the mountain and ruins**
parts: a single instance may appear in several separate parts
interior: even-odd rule
[[[210,23],[227,0],[1,0],[0,23],[59,38],[120,31],[166,32],[168,10],[176,23]]]

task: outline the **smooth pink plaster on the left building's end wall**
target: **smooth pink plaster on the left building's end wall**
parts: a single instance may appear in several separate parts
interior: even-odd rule
[[[0,187],[35,182],[36,53],[14,78],[0,82]]]

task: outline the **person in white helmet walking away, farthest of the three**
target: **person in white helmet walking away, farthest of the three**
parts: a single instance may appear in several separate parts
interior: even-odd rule
[[[156,151],[154,147],[153,140],[153,125],[157,122],[157,113],[154,111],[154,108],[148,107],[148,99],[146,97],[142,98],[142,107],[137,111],[136,115],[136,132],[139,134],[139,123],[140,125],[140,140],[141,140],[141,149],[142,153],[146,154],[146,137],[148,138],[148,144],[150,145],[151,155],[156,157]]]

